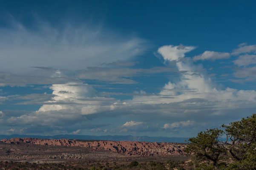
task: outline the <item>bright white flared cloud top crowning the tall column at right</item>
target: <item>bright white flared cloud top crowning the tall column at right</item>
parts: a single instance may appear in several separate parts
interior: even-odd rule
[[[161,54],[165,60],[178,61],[179,59],[185,56],[185,53],[188,53],[195,49],[194,46],[184,46],[184,45],[164,45],[158,48],[158,53]]]

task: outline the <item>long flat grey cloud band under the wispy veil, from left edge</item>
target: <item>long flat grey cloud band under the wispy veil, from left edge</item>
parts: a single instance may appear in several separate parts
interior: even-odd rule
[[[66,82],[80,82],[79,79],[96,79],[114,84],[136,84],[138,82],[130,79],[130,77],[163,72],[173,72],[173,74],[177,74],[177,70],[174,68],[166,67],[153,67],[150,69],[89,67],[86,70],[76,72],[74,77],[70,77],[70,71],[66,70],[60,71],[44,67],[34,67],[34,69],[33,72],[29,72],[29,75],[0,72],[0,86],[64,84]],[[65,72],[67,75],[65,75]]]

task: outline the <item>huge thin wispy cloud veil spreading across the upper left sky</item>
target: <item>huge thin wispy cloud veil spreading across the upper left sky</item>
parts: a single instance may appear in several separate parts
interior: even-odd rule
[[[125,61],[147,48],[141,38],[120,36],[101,26],[66,24],[57,29],[40,22],[38,30],[31,31],[11,20],[14,28],[0,28],[1,71],[25,73],[34,66],[79,70]]]

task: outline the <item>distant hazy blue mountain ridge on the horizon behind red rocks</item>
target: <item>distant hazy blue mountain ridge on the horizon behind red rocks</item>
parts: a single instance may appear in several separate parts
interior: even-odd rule
[[[138,141],[138,142],[177,142],[185,143],[188,138],[185,137],[151,137],[151,136],[118,136],[118,135],[107,135],[107,136],[91,136],[91,135],[53,135],[53,136],[41,136],[41,135],[0,135],[1,139],[12,139],[12,138],[38,138],[38,139],[80,139],[80,140],[106,140],[106,141]]]

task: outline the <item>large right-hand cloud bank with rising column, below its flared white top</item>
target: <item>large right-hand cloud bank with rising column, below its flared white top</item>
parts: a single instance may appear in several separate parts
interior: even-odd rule
[[[172,49],[173,46],[169,46],[169,48]],[[163,56],[167,56],[168,51],[170,50],[166,49],[167,54],[162,52]],[[220,121],[217,119],[219,116],[232,115],[233,118],[241,116],[239,114],[241,110],[249,111],[248,113],[242,111],[244,116],[248,116],[256,108],[256,91],[221,89],[213,83],[201,65],[193,64],[192,59],[185,57],[184,53],[180,56],[183,56],[184,59],[175,63],[180,71],[178,80],[175,79],[165,84],[159,95],[134,96],[131,103],[137,114],[147,113],[153,116],[154,113],[158,113],[158,116],[169,120],[175,119],[176,122],[190,119],[191,122],[206,122],[208,120],[210,123],[210,119]],[[173,58],[165,58],[173,60]],[[251,70],[251,74],[253,74],[253,70]],[[256,74],[254,73],[254,75]],[[138,107],[140,105],[144,110],[140,110],[136,105]],[[167,125],[169,126],[169,124]],[[168,127],[167,125],[166,127]],[[173,126],[175,125],[177,123],[173,124]]]

